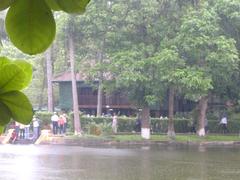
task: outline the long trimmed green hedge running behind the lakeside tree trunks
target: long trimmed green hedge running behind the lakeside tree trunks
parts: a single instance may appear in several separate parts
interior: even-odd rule
[[[47,125],[51,123],[52,113],[36,112],[36,115],[41,120],[41,124]],[[73,132],[73,115],[68,115],[68,131]],[[118,117],[118,132],[132,132],[134,131],[136,117]],[[89,132],[90,126],[99,126],[106,131],[111,129],[111,117],[86,117],[81,116],[81,127],[83,131]],[[184,118],[174,119],[174,127],[176,133],[188,133],[192,130],[192,120]],[[153,133],[166,133],[168,128],[167,119],[151,118],[151,131]],[[221,127],[216,120],[208,120],[208,130],[210,133],[221,133]],[[240,133],[240,121],[230,120],[228,122],[229,133]]]

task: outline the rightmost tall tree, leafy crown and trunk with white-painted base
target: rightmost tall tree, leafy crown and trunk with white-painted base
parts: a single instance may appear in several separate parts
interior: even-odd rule
[[[202,71],[212,81],[213,89],[209,86],[207,93],[203,92],[198,97],[198,134],[204,136],[209,96],[225,91],[233,74],[238,71],[235,42],[222,35],[218,16],[208,3],[203,3],[197,10],[189,10],[183,19],[177,41],[186,64]]]

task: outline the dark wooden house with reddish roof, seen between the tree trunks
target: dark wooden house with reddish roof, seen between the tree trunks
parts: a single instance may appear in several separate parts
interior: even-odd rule
[[[87,84],[84,75],[76,74],[77,92],[79,110],[90,115],[96,115],[97,112],[97,87],[98,81]],[[59,85],[59,105],[62,110],[72,109],[72,83],[71,73],[64,72],[53,79],[54,83]],[[175,99],[176,112],[188,112],[194,107],[193,102],[186,101],[183,98]],[[130,103],[127,96],[123,92],[114,92],[112,94],[103,94],[102,112],[104,114],[119,112],[121,115],[133,115],[139,109]],[[150,114],[152,117],[160,117],[168,115],[167,96],[162,105],[155,104],[151,106]]]

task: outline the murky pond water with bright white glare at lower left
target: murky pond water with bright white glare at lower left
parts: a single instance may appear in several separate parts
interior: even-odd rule
[[[1,145],[0,179],[238,180],[239,147]]]

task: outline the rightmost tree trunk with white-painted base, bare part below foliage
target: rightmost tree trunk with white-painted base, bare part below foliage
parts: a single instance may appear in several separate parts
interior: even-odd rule
[[[206,120],[206,112],[208,106],[208,96],[204,96],[200,99],[199,103],[199,115],[198,115],[198,135],[205,136],[205,120]]]

